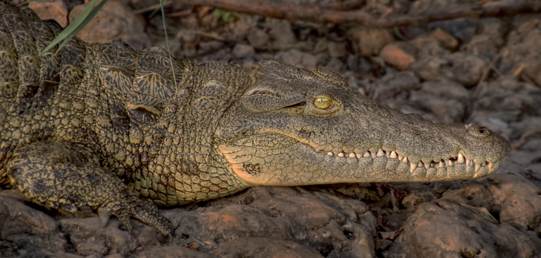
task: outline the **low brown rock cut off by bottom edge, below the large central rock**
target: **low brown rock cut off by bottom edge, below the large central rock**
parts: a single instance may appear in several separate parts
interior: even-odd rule
[[[268,237],[239,237],[220,245],[210,252],[223,258],[312,258],[324,257],[302,244],[292,241],[276,240]]]

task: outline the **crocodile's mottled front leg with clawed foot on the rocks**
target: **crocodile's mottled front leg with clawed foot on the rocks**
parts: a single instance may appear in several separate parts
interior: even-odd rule
[[[8,164],[10,183],[34,203],[75,212],[97,210],[103,226],[116,215],[131,231],[134,217],[164,236],[171,222],[150,203],[139,199],[116,175],[100,167],[99,158],[80,144],[36,142],[17,149]]]

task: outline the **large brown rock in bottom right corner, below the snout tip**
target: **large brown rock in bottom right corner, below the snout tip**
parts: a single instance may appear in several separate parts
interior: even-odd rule
[[[385,257],[537,257],[541,189],[515,167],[420,204]],[[512,172],[515,174],[506,174]],[[497,214],[499,221],[492,214]],[[402,256],[401,256],[402,257]]]

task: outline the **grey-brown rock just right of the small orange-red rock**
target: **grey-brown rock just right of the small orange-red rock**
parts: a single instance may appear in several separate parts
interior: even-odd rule
[[[428,56],[410,64],[410,70],[426,81],[446,78],[463,85],[476,84],[487,63],[473,55],[455,52],[445,56]]]

